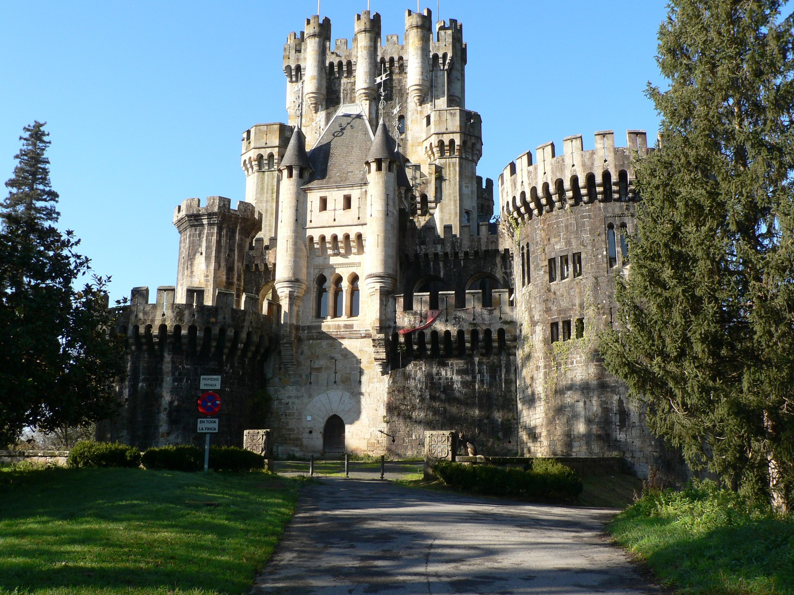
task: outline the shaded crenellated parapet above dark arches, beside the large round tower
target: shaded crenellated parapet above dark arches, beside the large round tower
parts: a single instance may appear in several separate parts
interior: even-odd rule
[[[480,223],[480,235],[470,235],[471,225],[461,225],[461,235],[454,235],[452,225],[444,226],[444,236],[436,233],[436,228],[426,225],[423,228],[409,228],[405,234],[403,257],[409,262],[414,259],[464,258],[467,253],[499,251],[499,226]]]

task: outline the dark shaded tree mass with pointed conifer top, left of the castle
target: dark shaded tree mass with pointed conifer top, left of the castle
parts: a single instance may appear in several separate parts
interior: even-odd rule
[[[75,252],[73,232],[56,228],[48,132],[40,122],[24,130],[0,205],[0,444],[28,426],[48,431],[108,417],[123,371],[121,344],[107,334],[109,279],[75,288],[89,261]]]

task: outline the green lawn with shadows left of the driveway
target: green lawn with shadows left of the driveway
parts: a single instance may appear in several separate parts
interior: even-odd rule
[[[0,593],[245,593],[299,484],[266,473],[0,469]]]

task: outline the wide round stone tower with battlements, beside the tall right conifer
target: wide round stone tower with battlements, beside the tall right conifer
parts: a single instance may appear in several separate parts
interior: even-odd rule
[[[626,457],[638,473],[665,460],[626,386],[603,367],[597,335],[617,324],[615,276],[630,274],[634,232],[632,159],[647,155],[644,131],[626,148],[612,131],[526,152],[499,176],[503,226],[515,242],[518,415],[522,452]]]

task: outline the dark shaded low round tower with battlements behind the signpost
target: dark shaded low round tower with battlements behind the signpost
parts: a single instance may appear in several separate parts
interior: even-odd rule
[[[202,374],[222,376],[213,443],[241,447],[244,430],[264,427],[267,317],[230,307],[138,303],[121,310],[116,330],[129,349],[128,375],[118,386],[125,405],[98,424],[98,440],[141,450],[203,443],[196,432]]]

